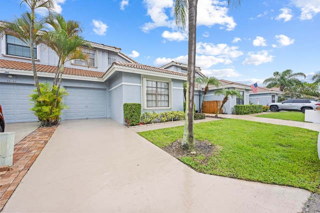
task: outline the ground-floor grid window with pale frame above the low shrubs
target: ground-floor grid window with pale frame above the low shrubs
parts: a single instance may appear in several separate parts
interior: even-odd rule
[[[169,107],[169,83],[145,81],[146,107]]]

